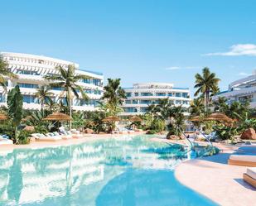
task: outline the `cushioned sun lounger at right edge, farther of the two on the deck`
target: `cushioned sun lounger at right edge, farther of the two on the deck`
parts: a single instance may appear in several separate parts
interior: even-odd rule
[[[229,156],[229,165],[240,165],[240,166],[256,166],[256,156]]]

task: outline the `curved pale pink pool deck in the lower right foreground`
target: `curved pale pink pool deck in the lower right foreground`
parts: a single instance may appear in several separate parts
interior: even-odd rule
[[[175,170],[177,180],[220,205],[256,205],[256,189],[243,180],[247,167],[227,165],[229,156],[239,147],[215,146],[222,150],[220,154],[178,165]]]

